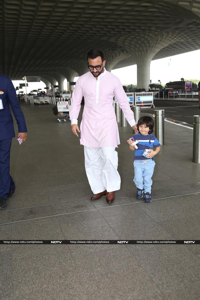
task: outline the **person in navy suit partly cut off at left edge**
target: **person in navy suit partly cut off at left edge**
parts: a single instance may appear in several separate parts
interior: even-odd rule
[[[12,197],[15,184],[10,176],[10,148],[15,137],[10,106],[18,125],[18,135],[22,143],[27,137],[24,115],[16,98],[16,91],[11,79],[0,74],[0,209],[6,207],[6,199]]]

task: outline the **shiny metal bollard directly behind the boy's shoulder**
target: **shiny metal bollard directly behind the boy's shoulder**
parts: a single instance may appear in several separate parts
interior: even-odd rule
[[[155,110],[155,137],[160,145],[164,145],[165,110]]]

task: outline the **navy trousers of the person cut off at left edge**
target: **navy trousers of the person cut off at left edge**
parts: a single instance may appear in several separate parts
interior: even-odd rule
[[[12,139],[0,140],[0,197],[7,199],[10,188],[15,190],[15,184],[10,176],[10,148]]]

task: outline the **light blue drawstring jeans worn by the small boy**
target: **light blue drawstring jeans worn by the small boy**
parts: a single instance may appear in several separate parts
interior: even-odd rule
[[[152,185],[152,175],[154,173],[155,162],[152,159],[149,160],[135,160],[133,163],[134,166],[134,183],[137,188],[143,189],[144,192],[151,193]]]

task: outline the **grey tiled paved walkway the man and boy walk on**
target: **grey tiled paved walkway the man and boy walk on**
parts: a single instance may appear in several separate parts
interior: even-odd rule
[[[83,146],[51,106],[22,105],[28,139],[13,139],[16,192],[0,212],[0,239],[200,239],[200,165],[193,130],[165,122],[151,203],[136,199],[133,153],[119,128],[121,190],[91,201]],[[0,298],[199,299],[199,245],[0,245]]]

